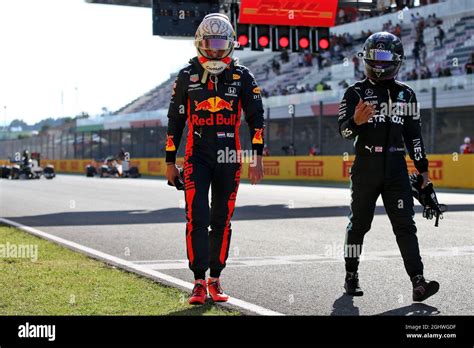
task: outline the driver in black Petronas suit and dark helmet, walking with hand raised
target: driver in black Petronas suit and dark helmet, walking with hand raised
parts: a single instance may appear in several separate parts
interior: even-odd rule
[[[423,301],[439,290],[423,277],[413,196],[405,161],[405,147],[428,184],[428,160],[421,137],[420,110],[414,91],[396,81],[404,59],[398,37],[387,32],[371,35],[360,53],[366,78],[350,86],[339,108],[339,132],[354,139],[351,168],[351,214],[346,230],[345,289],[362,296],[358,266],[364,235],[370,230],[375,203],[382,195],[405,269],[413,284],[413,300]]]

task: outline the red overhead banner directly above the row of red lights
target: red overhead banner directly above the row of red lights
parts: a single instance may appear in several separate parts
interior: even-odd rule
[[[239,23],[333,27],[338,0],[241,0]]]

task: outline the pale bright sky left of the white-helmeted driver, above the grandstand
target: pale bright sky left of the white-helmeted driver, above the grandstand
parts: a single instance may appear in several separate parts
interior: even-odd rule
[[[193,55],[191,40],[152,35],[150,8],[1,0],[0,125],[114,111]]]

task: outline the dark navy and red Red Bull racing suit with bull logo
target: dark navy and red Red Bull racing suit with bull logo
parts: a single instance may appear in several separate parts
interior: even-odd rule
[[[204,279],[208,268],[211,277],[219,277],[228,257],[230,219],[240,182],[241,161],[237,152],[241,150],[241,110],[249,125],[254,155],[262,155],[264,128],[260,89],[246,67],[232,61],[215,78],[202,81],[203,74],[197,58],[179,72],[168,111],[166,142],[166,162],[175,162],[187,122],[186,245],[189,268],[196,279]]]

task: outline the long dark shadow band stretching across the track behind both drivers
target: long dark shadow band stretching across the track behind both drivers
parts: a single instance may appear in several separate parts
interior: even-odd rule
[[[415,207],[421,213],[420,206]],[[474,204],[452,204],[448,212],[474,211]],[[383,207],[376,207],[376,215],[385,214]],[[233,221],[273,220],[295,218],[325,218],[349,215],[349,206],[289,208],[283,204],[246,205],[237,207]],[[111,211],[69,211],[64,213],[8,217],[27,226],[100,226],[181,223],[185,221],[185,211],[179,208],[160,210],[111,210]]]

